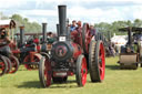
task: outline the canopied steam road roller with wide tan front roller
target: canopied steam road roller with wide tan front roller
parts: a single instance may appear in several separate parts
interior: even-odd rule
[[[142,28],[129,27],[119,29],[119,31],[128,32],[128,43],[121,46],[118,63],[121,69],[136,70],[139,63],[142,66]]]

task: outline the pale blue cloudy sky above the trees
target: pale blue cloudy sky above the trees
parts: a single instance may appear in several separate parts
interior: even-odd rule
[[[0,0],[0,12],[9,17],[17,13],[40,24],[47,22],[49,31],[57,31],[59,4],[67,4],[70,22],[142,20],[142,0]]]

